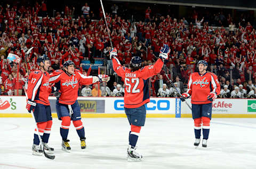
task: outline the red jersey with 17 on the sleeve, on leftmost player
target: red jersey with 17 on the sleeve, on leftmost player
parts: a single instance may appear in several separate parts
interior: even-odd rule
[[[41,70],[31,72],[28,78],[28,99],[39,104],[50,105],[48,97],[52,88],[49,85],[49,78],[48,72],[43,73]]]

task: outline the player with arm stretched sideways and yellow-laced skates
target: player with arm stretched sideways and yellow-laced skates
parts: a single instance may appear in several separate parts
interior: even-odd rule
[[[56,70],[50,74],[50,83],[55,83],[55,86],[60,90],[61,95],[56,101],[56,110],[61,122],[60,134],[62,137],[62,150],[68,151],[69,146],[68,131],[71,120],[76,128],[77,134],[81,140],[81,148],[86,147],[84,126],[81,121],[80,107],[77,102],[79,85],[91,85],[98,81],[109,80],[108,75],[98,75],[86,77],[81,72],[75,70],[75,63],[66,61],[63,64],[63,71]]]

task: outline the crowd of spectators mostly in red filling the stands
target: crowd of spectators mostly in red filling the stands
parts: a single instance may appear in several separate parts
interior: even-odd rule
[[[75,10],[81,12],[77,18],[73,17]],[[99,18],[95,17],[95,12],[99,13]],[[145,20],[138,22],[121,18],[119,13],[122,11],[118,5],[113,4],[108,12],[111,41],[118,49],[122,64],[129,65],[135,55],[142,58],[142,65],[154,64],[161,46],[170,46],[171,54],[164,69],[151,78],[151,95],[177,97],[167,77],[181,92],[186,91],[185,84],[189,74],[196,71],[197,61],[206,60],[208,71],[219,77],[223,90],[220,97],[256,96],[256,32],[246,18],[242,17],[235,23],[230,14],[225,16],[220,13],[212,21],[217,21],[220,27],[213,28],[209,24],[211,21],[199,18],[196,11],[191,16],[193,20],[187,21],[186,18],[153,14],[148,7],[144,13]],[[87,74],[87,70],[82,68],[82,60],[90,60],[91,63],[100,58],[109,60],[110,39],[101,8],[94,13],[88,3],[81,9],[66,6],[63,13],[57,12],[54,18],[47,15],[44,1],[34,6],[0,6],[2,94],[22,95],[21,89],[28,77],[25,53],[30,47],[34,48],[27,58],[29,72],[37,69],[36,58],[43,54],[51,60],[50,72],[61,69],[63,62],[72,60]],[[229,27],[224,28],[222,22],[228,23]],[[6,60],[9,53],[22,58],[19,77],[18,65]],[[97,96],[99,91],[101,96],[123,96],[123,82],[118,83],[109,83],[109,87],[105,83],[100,87],[82,87],[81,96]]]

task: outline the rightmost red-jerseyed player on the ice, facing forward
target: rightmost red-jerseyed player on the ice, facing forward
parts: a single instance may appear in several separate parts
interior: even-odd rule
[[[208,63],[201,60],[197,63],[199,72],[191,73],[188,80],[188,90],[182,94],[181,100],[191,96],[192,117],[195,124],[194,145],[197,147],[201,141],[201,124],[203,122],[202,146],[207,147],[212,117],[212,102],[220,94],[220,84],[217,75],[207,73]]]

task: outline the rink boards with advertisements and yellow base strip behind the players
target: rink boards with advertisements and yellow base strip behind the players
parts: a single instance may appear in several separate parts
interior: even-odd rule
[[[52,116],[57,117],[55,97],[49,97]],[[191,106],[190,99],[187,99]],[[78,97],[82,117],[126,117],[123,97]],[[189,107],[179,98],[150,98],[147,117],[191,117]],[[26,97],[1,96],[0,117],[31,117]],[[216,99],[212,117],[256,117],[256,99]]]

